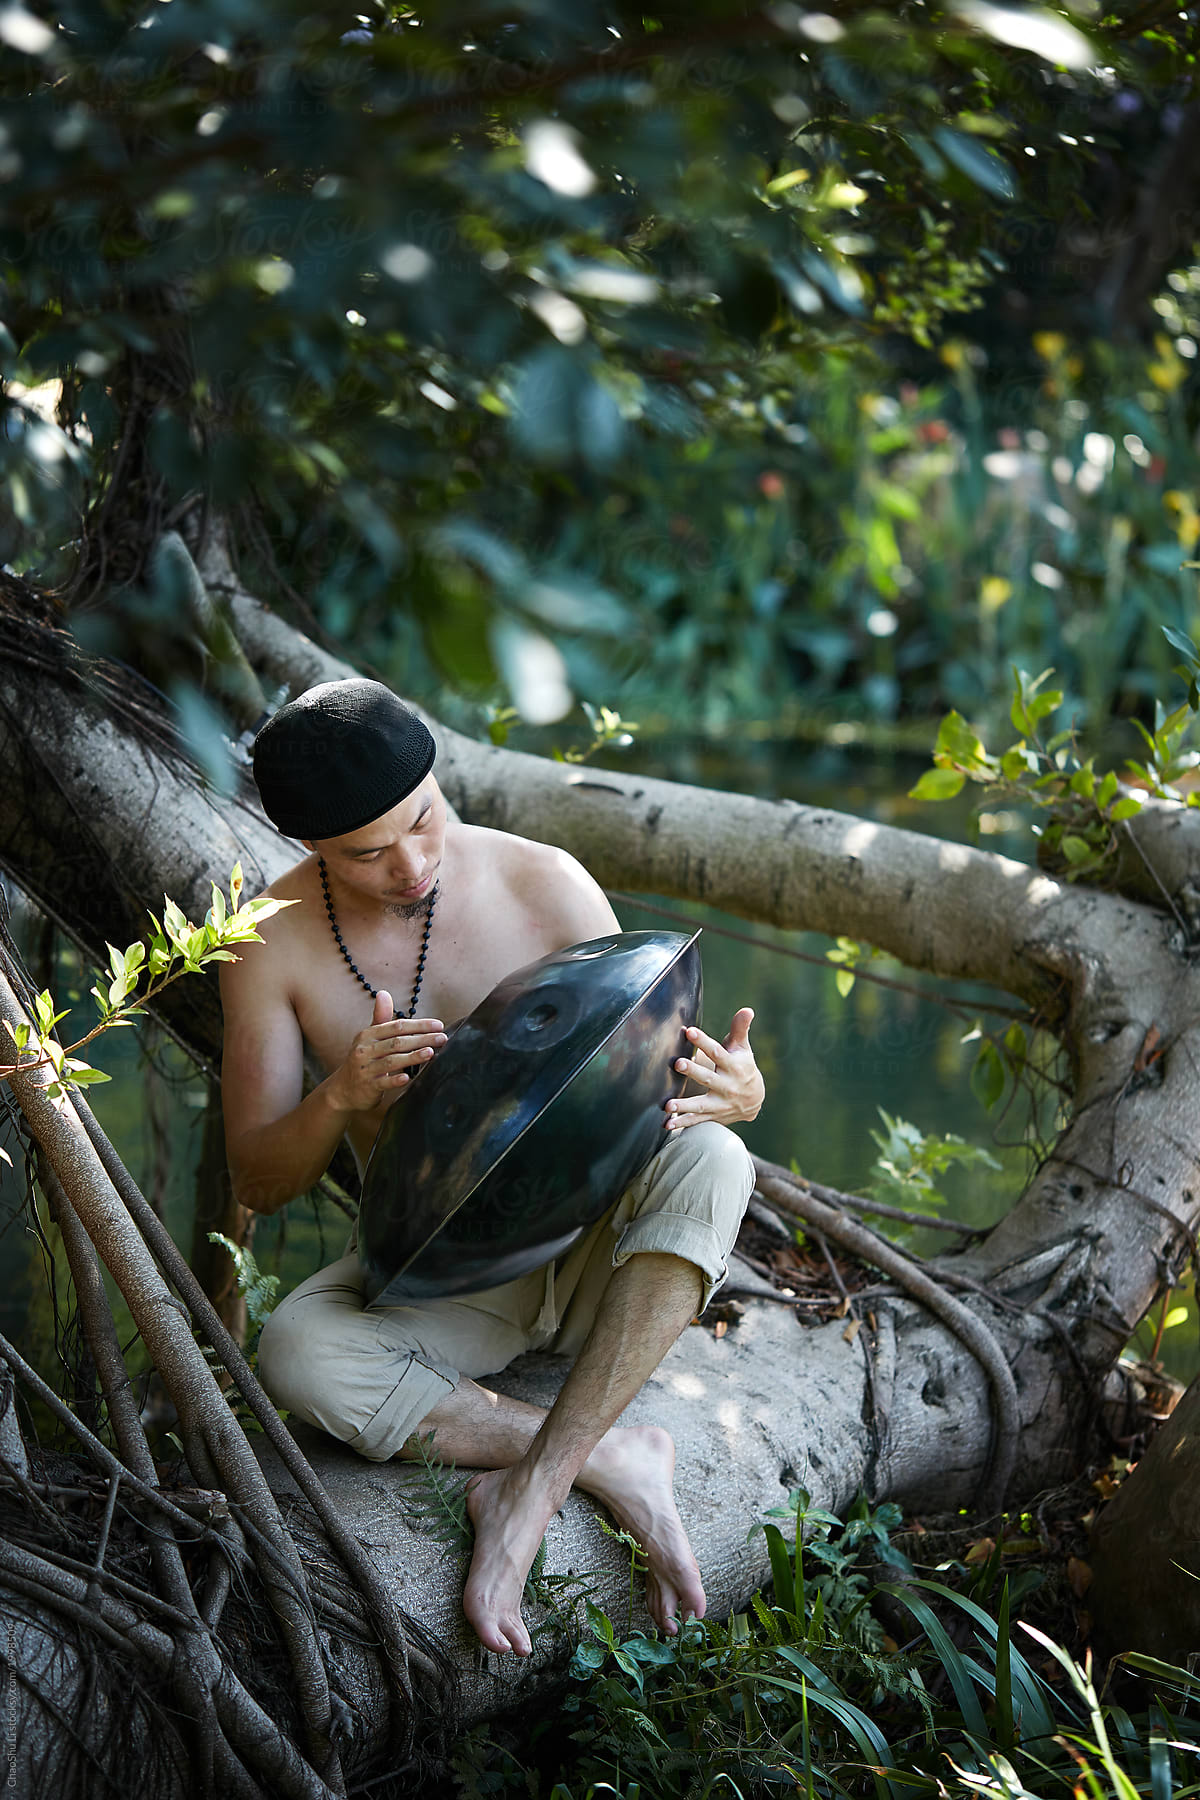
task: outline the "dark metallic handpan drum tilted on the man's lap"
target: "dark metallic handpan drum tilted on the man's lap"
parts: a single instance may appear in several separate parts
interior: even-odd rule
[[[696,940],[622,931],[506,976],[398,1100],[363,1175],[381,1307],[470,1294],[561,1256],[664,1143],[700,1022]]]

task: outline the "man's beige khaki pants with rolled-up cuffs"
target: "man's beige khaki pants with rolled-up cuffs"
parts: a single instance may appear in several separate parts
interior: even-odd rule
[[[700,1269],[703,1305],[754,1190],[745,1145],[723,1125],[664,1132],[615,1206],[556,1264],[502,1287],[367,1307],[354,1253],[302,1282],[259,1341],[277,1406],[387,1462],[462,1375],[495,1375],[525,1350],[578,1355],[613,1269],[644,1251]]]

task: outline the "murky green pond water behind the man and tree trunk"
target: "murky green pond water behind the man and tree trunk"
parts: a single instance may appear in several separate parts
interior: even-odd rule
[[[619,763],[613,758],[613,767],[833,806],[959,841],[968,837],[970,803],[927,806],[905,797],[925,767],[921,758],[880,756],[853,745],[779,743],[747,743],[734,754],[729,743],[651,740],[635,743]],[[999,815],[990,823],[990,848],[1031,860],[1033,839],[1016,819]],[[880,961],[873,970],[903,986],[880,986],[860,976],[842,999],[833,967],[824,959],[829,941],[822,936],[745,925],[711,907],[653,895],[613,896],[613,904],[630,931],[664,927],[671,918],[680,927],[685,922],[705,927],[703,1013],[712,1035],[725,1035],[738,1006],[754,1006],[752,1042],[768,1096],[759,1120],[743,1127],[750,1148],[777,1163],[795,1163],[802,1174],[829,1186],[858,1190],[871,1179],[880,1154],[871,1134],[882,1129],[880,1109],[885,1109],[923,1132],[955,1132],[984,1147],[1000,1165],[950,1170],[939,1183],[948,1213],[982,1226],[1011,1204],[1029,1168],[1020,1107],[1000,1123],[982,1109],[972,1093],[977,1042],[963,1042],[973,1008],[984,1008],[990,999],[1007,1001],[1006,995],[955,986],[955,999],[966,1004],[964,1019],[939,1004],[943,988],[937,983]],[[664,911],[671,918],[664,918]],[[63,956],[59,995],[77,1008],[79,1019],[88,1017],[88,986],[90,977],[81,981],[70,956]],[[187,1247],[205,1091],[171,1046],[158,1042],[155,1058],[169,1082],[158,1102],[166,1138],[153,1130],[135,1031],[112,1033],[97,1046],[95,1062],[113,1075],[113,1082],[94,1089],[92,1102],[144,1188],[155,1184],[158,1168],[164,1217],[176,1242]],[[43,1249],[20,1206],[22,1192],[23,1183],[0,1165],[0,1328],[47,1350],[52,1310],[40,1273]],[[261,1267],[279,1274],[286,1291],[322,1260],[340,1255],[345,1228],[345,1219],[327,1202],[293,1202],[282,1215],[257,1220],[255,1255]],[[941,1233],[919,1233],[912,1242],[927,1249],[945,1246]],[[1200,1366],[1195,1318],[1184,1296],[1173,1307],[1186,1307],[1187,1319],[1177,1316],[1162,1357],[1189,1379]]]

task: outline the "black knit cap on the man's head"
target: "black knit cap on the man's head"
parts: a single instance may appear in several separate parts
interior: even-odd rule
[[[263,725],[254,779],[286,837],[344,837],[412,794],[434,754],[428,729],[383,682],[326,680]]]

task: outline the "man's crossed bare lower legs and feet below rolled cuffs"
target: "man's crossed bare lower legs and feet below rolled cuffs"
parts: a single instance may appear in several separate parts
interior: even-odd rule
[[[675,1633],[676,1618],[703,1616],[700,1568],[675,1507],[675,1445],[657,1426],[613,1429],[694,1316],[700,1289],[700,1271],[680,1256],[631,1256],[608,1282],[549,1413],[462,1381],[421,1422],[441,1456],[488,1469],[468,1492],[475,1555],[462,1595],[488,1649],[529,1656],[525,1577],[572,1485],[603,1501],[646,1552],[655,1624]]]

